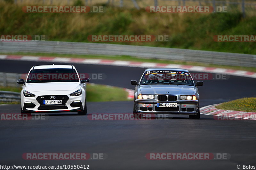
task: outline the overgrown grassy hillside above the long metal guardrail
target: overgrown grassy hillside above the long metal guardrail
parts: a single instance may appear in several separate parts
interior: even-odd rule
[[[255,42],[213,41],[218,34],[255,34],[256,17],[243,18],[239,12],[148,13],[105,6],[104,13],[24,13],[21,7],[0,3],[1,34],[46,35],[51,41],[75,42],[88,42],[87,36],[94,34],[170,35],[168,42],[121,44],[256,54]]]

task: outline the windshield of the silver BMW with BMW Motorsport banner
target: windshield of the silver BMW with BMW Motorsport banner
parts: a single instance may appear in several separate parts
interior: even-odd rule
[[[186,71],[153,70],[146,71],[140,81],[140,85],[191,85],[194,86],[191,75]]]

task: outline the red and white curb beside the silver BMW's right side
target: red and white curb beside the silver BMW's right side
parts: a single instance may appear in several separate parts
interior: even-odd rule
[[[241,120],[241,119],[250,119],[256,120],[256,113],[254,112],[242,112],[234,110],[223,110],[218,109],[215,106],[219,104],[209,105],[200,108],[200,114],[203,115],[213,115],[216,120]],[[227,117],[227,118],[223,118]]]

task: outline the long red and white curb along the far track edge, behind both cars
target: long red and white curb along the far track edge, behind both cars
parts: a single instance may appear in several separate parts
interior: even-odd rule
[[[256,72],[222,69],[215,67],[203,67],[181,64],[164,64],[164,63],[144,63],[121,60],[105,60],[105,59],[84,59],[84,58],[66,58],[66,57],[44,57],[44,56],[22,56],[22,55],[0,55],[0,60],[21,60],[21,61],[42,61],[42,62],[60,62],[60,63],[83,63],[97,65],[113,65],[113,66],[128,66],[141,68],[182,68],[190,71],[208,72],[208,73],[225,73],[228,75],[256,78]]]

